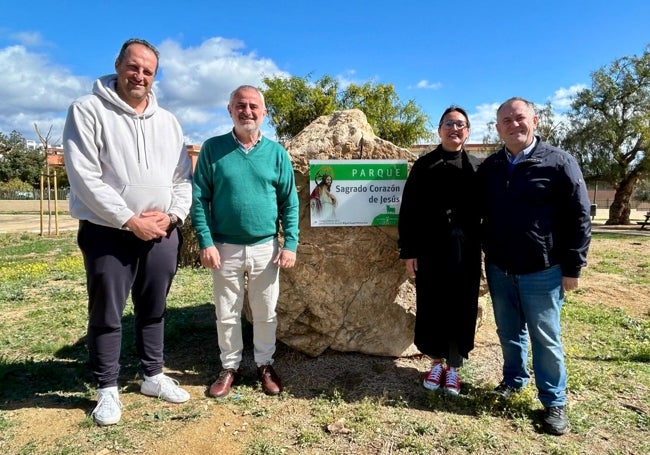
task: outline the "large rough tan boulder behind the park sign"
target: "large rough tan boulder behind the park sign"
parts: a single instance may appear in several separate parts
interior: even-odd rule
[[[296,266],[280,273],[278,339],[311,356],[326,349],[417,354],[415,291],[397,227],[311,227],[309,160],[417,158],[375,136],[360,110],[323,116],[285,144],[300,198]],[[410,167],[410,166],[409,166]]]

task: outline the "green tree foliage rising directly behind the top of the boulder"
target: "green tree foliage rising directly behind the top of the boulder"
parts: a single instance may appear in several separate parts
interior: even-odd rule
[[[315,83],[304,78],[266,77],[263,90],[269,123],[281,142],[291,139],[322,115],[346,109],[360,109],[375,134],[401,147],[430,141],[429,117],[413,100],[401,104],[392,84],[350,84],[341,90],[331,76]]]

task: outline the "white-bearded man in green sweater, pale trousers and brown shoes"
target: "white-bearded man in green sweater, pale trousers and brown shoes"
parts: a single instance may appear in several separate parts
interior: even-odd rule
[[[212,269],[222,366],[209,394],[225,397],[240,374],[247,276],[257,374],[264,393],[277,395],[282,385],[272,364],[279,272],[296,262],[298,194],[289,154],[260,131],[266,116],[262,93],[238,87],[228,112],[233,130],[203,143],[193,180],[191,220],[201,265]]]

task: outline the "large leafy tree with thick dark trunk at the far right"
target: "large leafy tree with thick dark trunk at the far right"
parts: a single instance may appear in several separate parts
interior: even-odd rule
[[[630,199],[650,175],[650,46],[592,74],[576,95],[564,147],[578,158],[585,178],[616,190],[606,224],[630,224]]]

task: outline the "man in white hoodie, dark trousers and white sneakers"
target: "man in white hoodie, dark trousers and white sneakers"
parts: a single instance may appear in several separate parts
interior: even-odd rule
[[[140,391],[172,403],[189,400],[163,374],[167,293],[178,268],[177,229],[192,202],[192,167],[176,118],[151,91],[159,54],[129,39],[116,74],[97,79],[72,103],[63,130],[70,214],[79,219],[88,289],[88,353],[97,381],[99,425],[122,417],[118,395],[122,315],[131,293]]]

